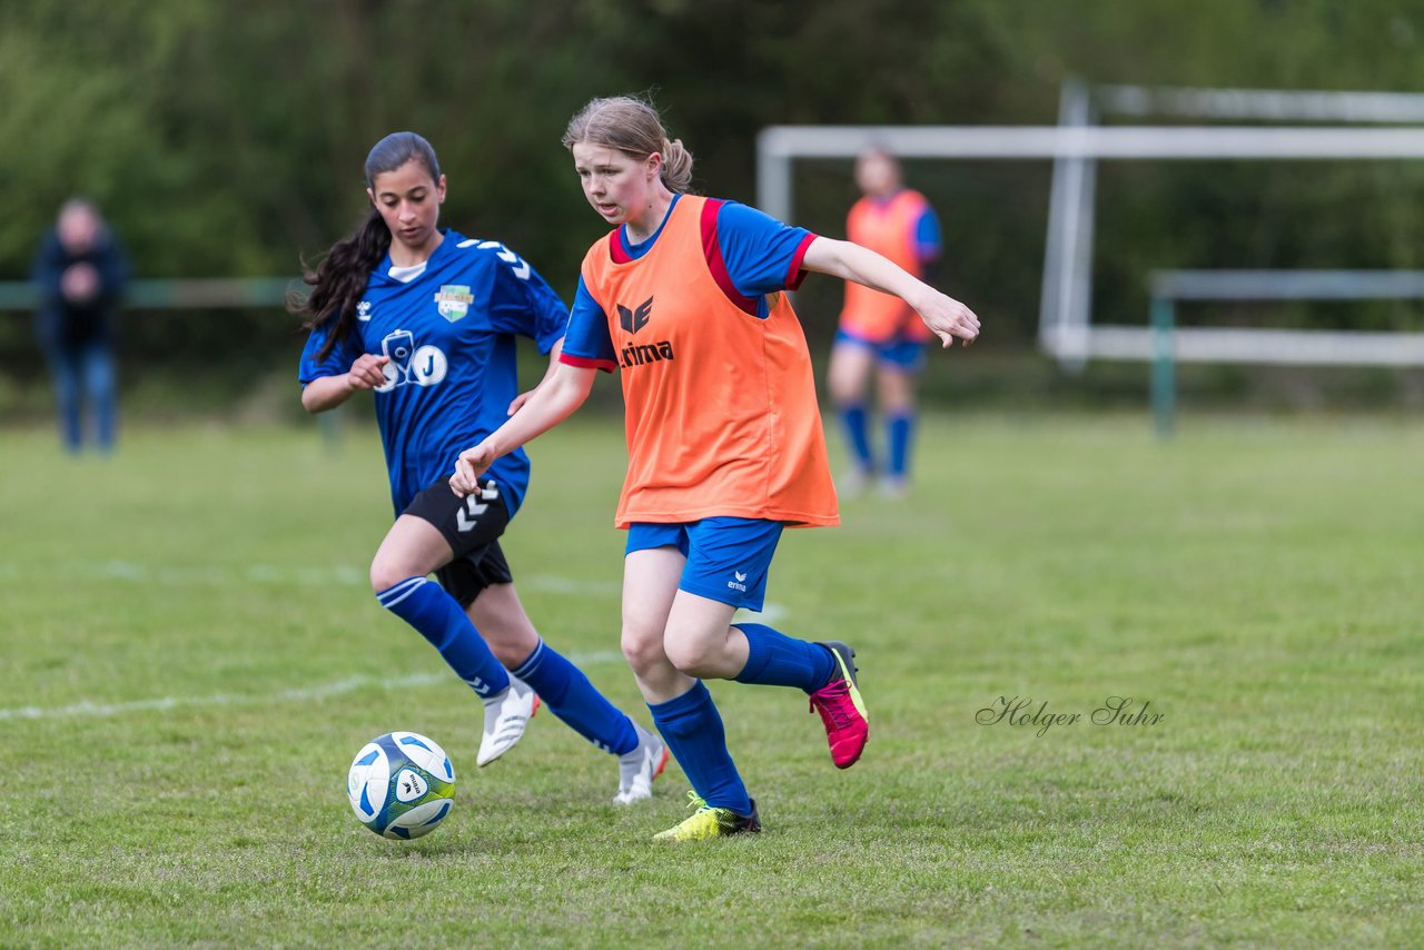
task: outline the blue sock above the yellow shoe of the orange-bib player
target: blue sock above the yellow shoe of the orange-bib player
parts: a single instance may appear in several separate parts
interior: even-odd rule
[[[726,751],[722,715],[701,679],[676,699],[649,702],[648,712],[693,792],[713,808],[729,808],[738,815],[752,813],[752,799],[736,772],[732,753]]]

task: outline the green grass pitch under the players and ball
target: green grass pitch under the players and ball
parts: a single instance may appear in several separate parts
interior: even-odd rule
[[[766,833],[681,847],[648,840],[681,772],[618,810],[547,714],[474,768],[474,696],[366,584],[372,432],[53,442],[0,434],[3,946],[1424,943],[1417,423],[931,420],[911,499],[772,573],[779,627],[860,651],[864,759],[832,768],[802,695],[713,684]],[[534,459],[525,604],[646,724],[618,423]],[[1082,718],[980,722],[1015,696]],[[1109,696],[1161,719],[1092,724]],[[345,799],[389,729],[459,772],[413,843]]]

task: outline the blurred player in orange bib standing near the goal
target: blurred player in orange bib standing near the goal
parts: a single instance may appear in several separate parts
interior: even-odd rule
[[[900,162],[883,148],[856,160],[856,187],[863,197],[846,218],[846,238],[870,248],[920,279],[940,256],[940,222],[918,191],[906,188]],[[854,281],[846,282],[846,305],[830,352],[829,387],[852,451],[852,469],[837,483],[843,494],[859,494],[883,476],[884,494],[904,494],[914,440],[914,379],[924,366],[933,335],[900,298]],[[884,469],[871,449],[870,379],[877,380],[886,427]]]

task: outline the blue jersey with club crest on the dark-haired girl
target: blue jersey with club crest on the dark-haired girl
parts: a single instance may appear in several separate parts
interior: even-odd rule
[[[461,450],[508,419],[520,392],[514,338],[527,336],[548,353],[567,323],[564,302],[527,261],[497,241],[444,231],[423,266],[382,261],[352,333],[318,362],[326,328],[312,330],[298,377],[305,386],[339,376],[362,353],[390,357],[375,397],[390,500],[400,514],[422,489],[450,476]],[[528,487],[528,456],[511,451],[488,474],[514,514]]]

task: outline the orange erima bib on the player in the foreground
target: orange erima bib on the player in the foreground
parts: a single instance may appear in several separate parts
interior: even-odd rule
[[[785,293],[766,298],[760,319],[756,301],[732,286],[716,238],[721,205],[682,195],[641,258],[615,259],[617,231],[584,256],[584,286],[608,318],[622,370],[628,477],[617,524],[837,524],[800,322]]]

